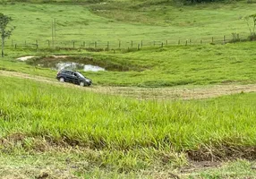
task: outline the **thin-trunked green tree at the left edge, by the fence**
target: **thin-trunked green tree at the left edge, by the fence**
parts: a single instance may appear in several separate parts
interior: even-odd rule
[[[4,13],[0,13],[0,34],[2,39],[2,57],[4,57],[4,40],[5,38],[10,38],[13,30],[15,29],[15,27],[11,27],[9,28],[9,30],[7,30],[7,25],[10,21],[13,21],[11,17],[4,15]]]

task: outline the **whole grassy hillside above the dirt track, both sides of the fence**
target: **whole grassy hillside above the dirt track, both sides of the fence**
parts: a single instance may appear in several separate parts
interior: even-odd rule
[[[223,35],[231,33],[239,33],[240,38],[247,38],[249,30],[242,18],[254,13],[254,9],[255,4],[243,1],[181,7],[149,1],[97,4],[7,3],[0,6],[0,12],[12,16],[12,24],[17,29],[11,39],[6,41],[7,55],[0,65],[3,69],[54,78],[53,71],[41,68],[31,70],[28,65],[9,61],[15,61],[21,55],[66,54],[73,55],[75,61],[90,57],[93,62],[81,62],[106,67],[108,72],[86,72],[95,84],[101,85],[159,87],[251,83],[255,81],[253,42],[224,46],[210,46],[209,43],[212,37],[214,43],[216,40],[218,44],[222,43]],[[55,46],[64,47],[61,50],[48,47],[47,40],[51,40],[54,19]],[[171,46],[177,45],[179,39],[180,46]],[[199,45],[201,39],[203,44]],[[226,36],[228,39],[231,36]],[[35,49],[36,40],[38,51]],[[141,40],[142,48],[137,51]],[[185,40],[188,40],[187,47],[184,46]],[[124,50],[99,53],[79,50],[83,42],[85,47],[94,49],[95,41],[100,48],[106,48],[108,41],[110,49],[118,47],[120,42]],[[164,47],[159,47],[162,42]],[[14,48],[15,44],[17,49]],[[30,47],[34,44],[33,49],[25,47],[25,44]]]

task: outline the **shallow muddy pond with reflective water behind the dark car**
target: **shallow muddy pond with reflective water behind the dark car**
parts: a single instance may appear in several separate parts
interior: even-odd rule
[[[52,70],[81,70],[84,72],[127,72],[145,70],[145,67],[139,65],[127,64],[124,61],[118,61],[115,58],[95,58],[92,56],[73,56],[73,55],[51,55],[51,56],[22,56],[17,60],[39,66],[50,68]]]

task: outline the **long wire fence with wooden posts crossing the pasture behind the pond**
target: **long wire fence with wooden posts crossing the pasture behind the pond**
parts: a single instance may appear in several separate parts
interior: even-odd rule
[[[164,40],[111,40],[111,41],[86,41],[86,40],[15,40],[7,39],[5,47],[32,48],[35,50],[46,48],[59,49],[87,49],[90,51],[103,50],[140,50],[143,47],[166,47],[166,46],[191,46],[191,45],[206,45],[206,44],[226,44],[237,42],[245,39],[239,34],[232,36],[210,37],[210,38],[179,38],[179,39],[164,39]]]

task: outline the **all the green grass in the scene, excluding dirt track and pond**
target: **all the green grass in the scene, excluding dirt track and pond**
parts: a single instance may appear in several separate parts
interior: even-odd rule
[[[96,89],[254,84],[255,42],[246,41],[243,17],[255,13],[256,4],[4,2],[0,13],[12,16],[17,28],[0,59],[0,178],[255,177],[255,93],[138,100],[122,91],[54,85],[56,71],[38,64],[68,55],[62,61],[104,67],[83,72]],[[232,33],[242,40],[228,43]],[[16,60],[25,55],[36,58]],[[4,77],[3,71],[34,78]],[[33,81],[38,76],[47,82]]]

